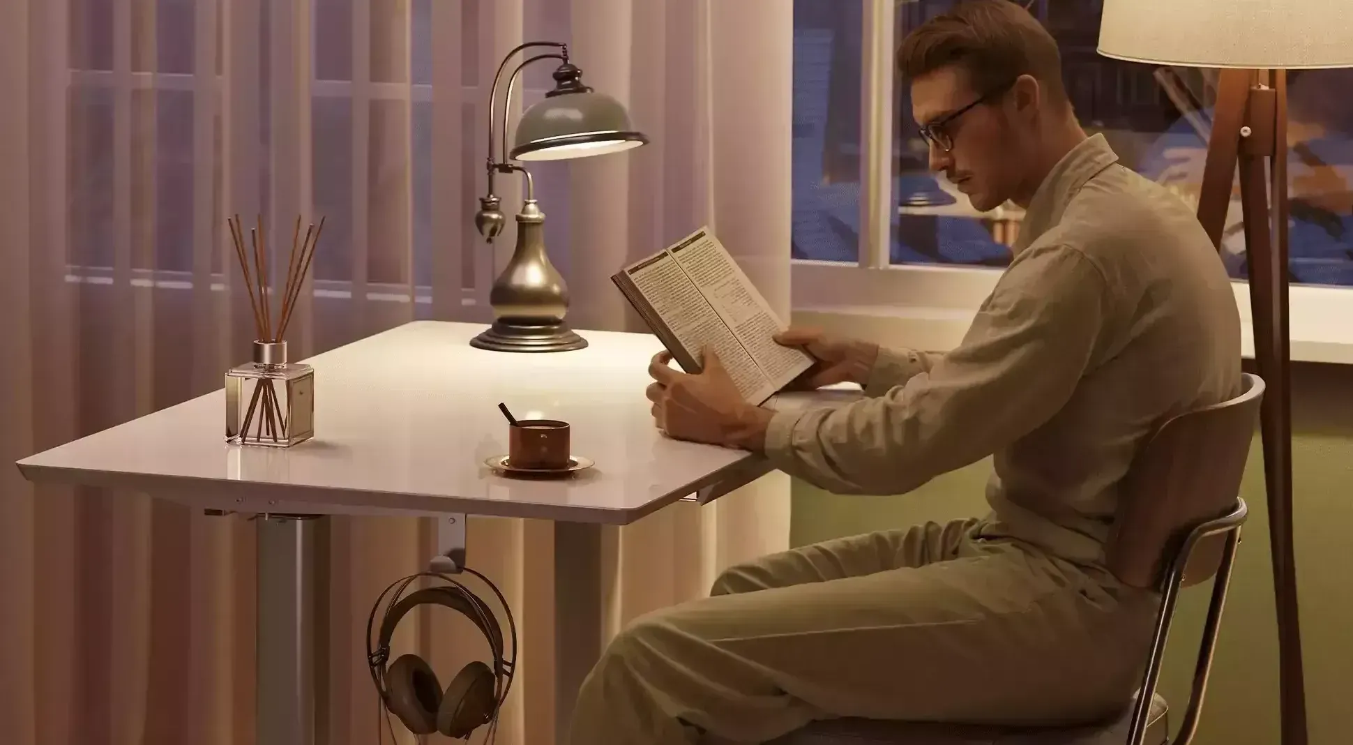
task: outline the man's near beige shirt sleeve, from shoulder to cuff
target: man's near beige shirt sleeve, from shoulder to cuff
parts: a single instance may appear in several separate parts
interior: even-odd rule
[[[1109,287],[1089,257],[1030,246],[957,349],[881,396],[775,414],[766,454],[835,494],[905,494],[1057,414],[1092,366],[1109,319]]]

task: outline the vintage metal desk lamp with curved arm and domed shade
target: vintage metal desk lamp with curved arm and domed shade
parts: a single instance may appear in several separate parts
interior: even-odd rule
[[[507,77],[503,96],[501,155],[494,158],[494,105],[498,81],[517,53],[532,47],[557,51],[537,54],[517,65]],[[528,108],[517,123],[511,153],[507,151],[507,111],[522,69],[541,59],[559,59],[555,89]],[[471,346],[492,352],[568,352],[587,346],[564,322],[568,291],[564,279],[545,254],[545,215],[536,203],[530,172],[513,161],[557,161],[618,153],[648,139],[635,131],[625,107],[616,99],[583,85],[582,70],[568,61],[568,47],[557,42],[528,42],[507,53],[488,93],[488,193],[479,197],[475,227],[490,243],[502,233],[502,200],[494,195],[494,176],[520,172],[526,177],[526,200],[517,212],[517,246],[511,260],[488,292],[494,322],[471,339]]]

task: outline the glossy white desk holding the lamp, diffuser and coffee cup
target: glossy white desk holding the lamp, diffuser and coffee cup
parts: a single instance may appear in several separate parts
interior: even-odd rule
[[[563,733],[601,653],[601,526],[683,498],[708,502],[770,466],[741,450],[656,431],[644,387],[648,360],[662,346],[649,334],[589,331],[587,349],[510,354],[469,346],[482,329],[414,322],[306,360],[315,368],[315,438],[291,449],[227,445],[225,392],[216,391],[38,453],[19,468],[32,481],[281,515],[257,522],[258,745],[314,741],[311,654],[299,641],[311,638],[314,619],[298,602],[310,590],[313,567],[299,557],[314,521],[292,518],[437,516],[440,552],[457,562],[465,514],[555,521]],[[495,475],[483,461],[507,452],[498,402],[518,418],[570,422],[574,453],[593,458],[594,469],[549,481]]]

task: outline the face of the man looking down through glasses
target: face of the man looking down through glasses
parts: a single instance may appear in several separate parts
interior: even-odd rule
[[[955,66],[912,81],[912,118],[920,126],[934,126],[939,141],[928,142],[931,170],[943,172],[967,195],[973,208],[982,212],[1011,199],[1023,170],[1019,138],[1001,105],[1004,93],[974,91],[963,70]],[[944,120],[982,96],[989,97]],[[940,143],[950,145],[950,150]]]

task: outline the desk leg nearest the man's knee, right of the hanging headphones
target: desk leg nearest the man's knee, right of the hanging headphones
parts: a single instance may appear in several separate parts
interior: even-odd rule
[[[555,745],[568,742],[578,688],[601,658],[601,529],[555,523]]]

